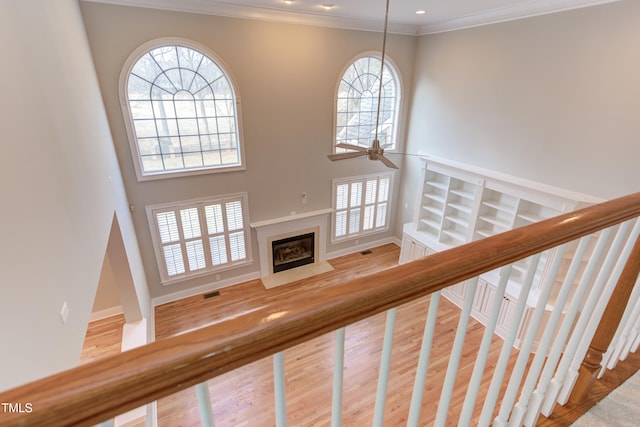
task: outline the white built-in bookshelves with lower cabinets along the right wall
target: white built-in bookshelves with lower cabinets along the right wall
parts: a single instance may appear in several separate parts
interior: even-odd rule
[[[601,202],[584,194],[445,159],[424,157],[422,162],[414,218],[403,228],[401,263]],[[542,253],[535,265],[531,259],[524,259],[511,268],[495,332],[504,337],[510,327],[518,327],[516,346],[526,332],[555,256],[552,249]],[[476,285],[472,315],[483,324],[493,309],[499,274],[486,273]],[[521,296],[520,289],[528,275],[533,275],[531,291]],[[442,295],[462,306],[469,289],[466,281],[444,289]],[[553,292],[551,295],[550,302]],[[526,298],[522,319],[514,318],[518,298]]]

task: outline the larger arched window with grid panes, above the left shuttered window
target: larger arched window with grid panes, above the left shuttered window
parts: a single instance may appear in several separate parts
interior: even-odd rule
[[[242,169],[228,73],[203,48],[162,42],[134,52],[121,79],[138,179]]]

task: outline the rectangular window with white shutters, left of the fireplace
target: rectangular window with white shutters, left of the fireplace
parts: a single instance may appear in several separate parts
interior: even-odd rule
[[[147,208],[163,282],[251,261],[246,197]]]

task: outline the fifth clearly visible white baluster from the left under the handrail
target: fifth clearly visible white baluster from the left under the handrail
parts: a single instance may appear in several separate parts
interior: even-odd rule
[[[433,334],[438,318],[439,303],[440,291],[431,294],[431,300],[429,302],[429,312],[427,313],[427,320],[425,321],[424,332],[422,335],[422,346],[420,347],[418,368],[416,369],[416,377],[413,384],[407,427],[418,427],[418,423],[420,421],[422,396],[424,394],[424,386],[427,379],[427,369],[429,368],[429,357],[431,356],[431,345],[433,344]]]

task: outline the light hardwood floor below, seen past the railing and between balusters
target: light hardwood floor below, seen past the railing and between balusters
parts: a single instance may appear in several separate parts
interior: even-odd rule
[[[156,338],[162,339],[201,327],[265,303],[277,303],[297,292],[321,286],[334,286],[356,276],[375,273],[396,265],[398,255],[399,248],[389,244],[374,248],[369,254],[355,253],[333,259],[330,263],[334,271],[271,290],[266,290],[259,280],[254,280],[221,289],[218,296],[205,298],[203,295],[197,295],[158,306],[155,309]],[[385,406],[385,426],[406,424],[428,304],[429,298],[426,297],[398,309]],[[422,403],[421,426],[433,424],[459,313],[460,310],[445,298],[440,299],[436,335]],[[385,316],[382,313],[346,329],[342,417],[344,426],[371,424]],[[121,330],[121,326],[119,329]],[[448,425],[457,425],[483,331],[483,326],[478,322],[470,322],[449,409]],[[334,336],[334,333],[329,333],[284,352],[287,416],[290,426],[330,424]],[[114,334],[103,337],[113,338]],[[92,346],[104,348],[106,345]],[[496,337],[491,345],[481,394],[486,393],[501,347],[502,340]],[[517,353],[514,351],[511,364],[515,361],[515,356]],[[626,376],[637,370],[640,357],[636,356],[629,358],[633,361],[627,364],[628,367],[623,366],[623,371],[613,375],[615,378],[611,384],[599,386],[597,392],[592,393],[594,397],[588,402],[575,407],[569,405],[559,408],[549,419],[541,417],[538,425],[570,425],[580,414],[624,381]],[[216,426],[273,426],[275,417],[272,372],[272,360],[265,358],[209,381]],[[615,384],[616,382],[618,384]],[[479,399],[473,424],[482,403],[482,399]],[[187,389],[160,399],[158,424],[160,427],[199,426],[195,390]]]

